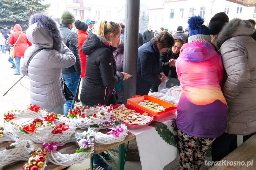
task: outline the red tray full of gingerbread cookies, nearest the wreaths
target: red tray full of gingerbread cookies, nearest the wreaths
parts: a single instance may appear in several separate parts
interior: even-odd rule
[[[142,128],[150,124],[154,119],[154,114],[133,106],[131,104],[117,104],[113,106],[113,114],[129,129]]]

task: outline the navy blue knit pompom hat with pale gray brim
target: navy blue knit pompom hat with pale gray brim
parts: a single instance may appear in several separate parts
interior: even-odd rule
[[[187,23],[189,25],[189,37],[188,42],[191,42],[194,39],[204,39],[209,42],[212,41],[210,29],[203,25],[204,19],[201,16],[191,16],[188,18]]]

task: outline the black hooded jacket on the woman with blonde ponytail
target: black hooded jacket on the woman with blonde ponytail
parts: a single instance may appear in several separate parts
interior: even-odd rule
[[[80,100],[86,105],[108,103],[114,86],[124,78],[121,72],[116,73],[113,51],[117,48],[106,46],[106,42],[106,39],[90,32],[82,45],[86,64]]]

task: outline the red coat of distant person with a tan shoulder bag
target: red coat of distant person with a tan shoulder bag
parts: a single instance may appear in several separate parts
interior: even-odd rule
[[[20,38],[15,45],[15,56],[16,57],[23,57],[24,52],[28,48],[28,45],[29,46],[32,45],[31,42],[28,41],[26,34],[21,31],[22,31],[22,29],[21,29],[20,24],[16,24],[14,26],[13,33],[11,33],[10,38],[9,38],[9,43],[15,44],[20,33],[21,33]],[[27,43],[28,43],[28,45],[27,45]]]

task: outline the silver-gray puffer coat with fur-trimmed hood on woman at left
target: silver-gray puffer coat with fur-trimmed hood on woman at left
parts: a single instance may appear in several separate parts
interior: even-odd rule
[[[26,34],[32,43],[24,54],[20,71],[30,79],[30,101],[49,113],[64,114],[62,68],[76,62],[74,54],[62,41],[61,33],[55,21],[48,14],[36,12],[29,20]],[[26,72],[28,59],[40,48],[31,60]]]

